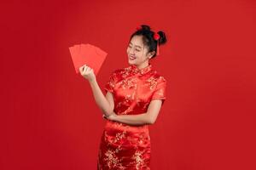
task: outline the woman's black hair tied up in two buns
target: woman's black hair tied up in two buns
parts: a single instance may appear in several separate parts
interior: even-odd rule
[[[156,56],[157,41],[159,42],[159,45],[166,43],[166,34],[163,31],[158,31],[156,33],[160,35],[160,39],[154,40],[154,31],[151,30],[150,26],[141,25],[141,27],[142,29],[135,31],[131,35],[130,41],[134,36],[143,36],[143,44],[148,47],[148,53],[155,51],[152,56],[152,58],[154,58]]]

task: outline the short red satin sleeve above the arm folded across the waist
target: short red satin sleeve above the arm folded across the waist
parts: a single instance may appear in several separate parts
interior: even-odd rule
[[[166,79],[164,77],[159,78],[152,96],[153,99],[162,99],[162,105],[164,104],[166,100]]]

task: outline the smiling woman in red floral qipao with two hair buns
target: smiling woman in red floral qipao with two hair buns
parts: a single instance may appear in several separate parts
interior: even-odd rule
[[[104,88],[106,96],[93,70],[87,65],[80,67],[107,119],[98,152],[99,170],[150,169],[148,125],[155,122],[166,99],[166,79],[152,68],[149,59],[165,42],[163,31],[156,33],[146,25],[137,27],[127,48],[130,66],[113,71]]]

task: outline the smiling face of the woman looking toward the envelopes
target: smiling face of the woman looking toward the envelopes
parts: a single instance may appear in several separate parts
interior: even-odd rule
[[[127,55],[130,65],[142,65],[148,62],[153,53],[148,53],[148,48],[143,45],[143,36],[134,36],[128,44]]]

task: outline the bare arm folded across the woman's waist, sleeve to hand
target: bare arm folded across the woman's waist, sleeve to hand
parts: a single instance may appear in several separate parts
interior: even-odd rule
[[[154,124],[156,118],[160,112],[162,105],[162,100],[154,99],[148,105],[148,111],[139,115],[115,115],[112,114],[108,116],[108,119],[123,122],[129,125],[144,125],[144,124]]]

